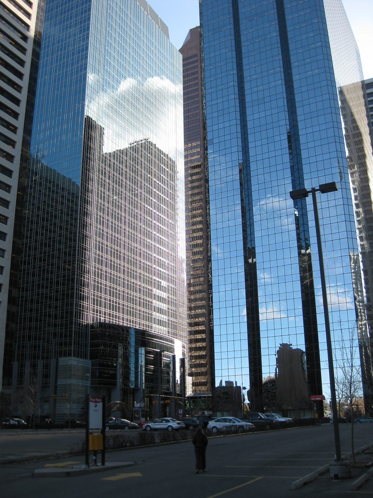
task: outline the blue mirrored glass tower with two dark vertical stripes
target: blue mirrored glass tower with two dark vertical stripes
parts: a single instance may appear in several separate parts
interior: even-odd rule
[[[200,12],[216,384],[249,388],[254,411],[293,416],[330,396],[312,202],[289,192],[336,181],[318,197],[336,377],[353,333],[365,395],[370,339],[335,78],[360,60],[356,44],[344,58],[348,43],[332,57],[332,43],[355,43],[342,4],[200,0]]]

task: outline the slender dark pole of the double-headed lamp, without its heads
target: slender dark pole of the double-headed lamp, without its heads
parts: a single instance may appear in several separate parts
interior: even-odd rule
[[[332,401],[334,442],[335,442],[335,460],[336,460],[336,462],[341,462],[342,457],[341,457],[341,444],[340,444],[340,440],[339,440],[337,398],[336,398],[336,393],[335,393],[333,350],[332,350],[332,340],[331,340],[331,335],[330,335],[330,322],[329,322],[329,311],[328,311],[328,298],[327,298],[327,294],[326,294],[324,259],[323,259],[323,255],[322,255],[322,246],[321,246],[320,221],[319,221],[319,212],[317,209],[316,189],[314,187],[312,187],[311,191],[312,191],[313,212],[315,215],[317,251],[318,251],[318,255],[319,255],[319,264],[320,264],[322,303],[323,303],[323,307],[324,307],[324,318],[325,318],[326,347],[327,347],[327,351],[328,351],[330,397],[331,397],[331,401]]]

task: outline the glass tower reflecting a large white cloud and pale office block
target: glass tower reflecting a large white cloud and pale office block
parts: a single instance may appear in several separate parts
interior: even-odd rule
[[[43,395],[87,392],[92,380],[91,393],[133,406],[129,379],[145,355],[143,397],[151,383],[159,396],[181,392],[182,116],[182,57],[145,1],[47,2],[14,391],[30,373]],[[147,355],[157,348],[164,366],[149,381]],[[53,401],[42,412],[54,409],[56,419],[66,416]]]

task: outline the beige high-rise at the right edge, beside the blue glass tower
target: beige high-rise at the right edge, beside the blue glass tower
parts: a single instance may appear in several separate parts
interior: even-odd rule
[[[360,74],[359,76],[361,77]],[[346,83],[343,74],[338,72],[336,80],[337,84]],[[369,331],[373,331],[373,155],[371,120],[365,88],[366,85],[361,81],[342,85],[339,88],[339,100],[359,236],[359,254],[357,251],[351,254],[351,264],[354,267],[361,263],[363,270],[363,277],[359,275],[360,278],[357,277],[354,282],[354,294],[358,303],[359,347],[365,365],[363,380],[366,405],[369,407],[373,406],[373,339],[369,334]]]

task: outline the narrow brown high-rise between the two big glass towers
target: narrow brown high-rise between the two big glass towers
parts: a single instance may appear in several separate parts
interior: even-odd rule
[[[202,392],[211,391],[213,340],[199,27],[189,31],[180,52],[184,84],[188,375],[193,392]]]

